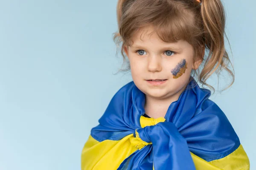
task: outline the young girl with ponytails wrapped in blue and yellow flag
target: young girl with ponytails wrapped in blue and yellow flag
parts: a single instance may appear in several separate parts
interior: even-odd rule
[[[233,80],[221,0],[119,0],[117,18],[133,81],[91,130],[81,170],[249,170],[232,125],[196,82],[218,70]]]

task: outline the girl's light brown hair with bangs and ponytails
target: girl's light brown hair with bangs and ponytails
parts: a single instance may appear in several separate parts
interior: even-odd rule
[[[124,47],[131,45],[136,31],[153,26],[164,42],[183,39],[192,45],[194,61],[203,61],[197,71],[192,70],[192,76],[203,86],[215,91],[206,80],[214,72],[219,76],[223,69],[231,76],[227,88],[233,84],[234,73],[228,64],[232,69],[233,65],[224,47],[225,11],[221,0],[201,0],[200,3],[197,0],[118,0],[117,22],[119,31],[114,33],[113,40],[117,48],[122,44],[123,65]],[[204,55],[206,50],[208,55]],[[129,64],[127,69],[119,71],[129,71],[130,68]]]

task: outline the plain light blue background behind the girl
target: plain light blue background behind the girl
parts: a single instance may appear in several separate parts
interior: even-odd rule
[[[112,40],[117,1],[0,2],[0,169],[79,170],[90,129],[132,80],[113,75],[122,65]],[[211,99],[227,115],[254,170],[256,2],[224,5],[236,81]]]

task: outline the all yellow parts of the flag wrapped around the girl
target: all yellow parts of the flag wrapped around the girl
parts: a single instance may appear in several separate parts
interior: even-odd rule
[[[164,122],[164,118],[147,118],[141,116],[140,124],[142,127],[156,125]],[[98,142],[92,136],[84,144],[81,153],[81,170],[116,170],[128,156],[136,150],[148,144],[140,139],[139,134],[125,136],[119,141],[105,140]],[[196,170],[249,170],[250,162],[242,145],[228,156],[207,162],[204,159],[191,153]],[[152,167],[154,170],[154,167]]]

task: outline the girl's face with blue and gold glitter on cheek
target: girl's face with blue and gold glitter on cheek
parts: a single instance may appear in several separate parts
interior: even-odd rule
[[[193,48],[187,41],[163,42],[157,34],[142,34],[153,31],[150,27],[140,29],[132,38],[133,44],[124,51],[131,66],[131,76],[144,94],[157,99],[165,99],[179,94],[186,87],[192,69],[201,62],[193,62]],[[142,40],[141,40],[142,39]],[[148,80],[166,79],[155,85]]]

